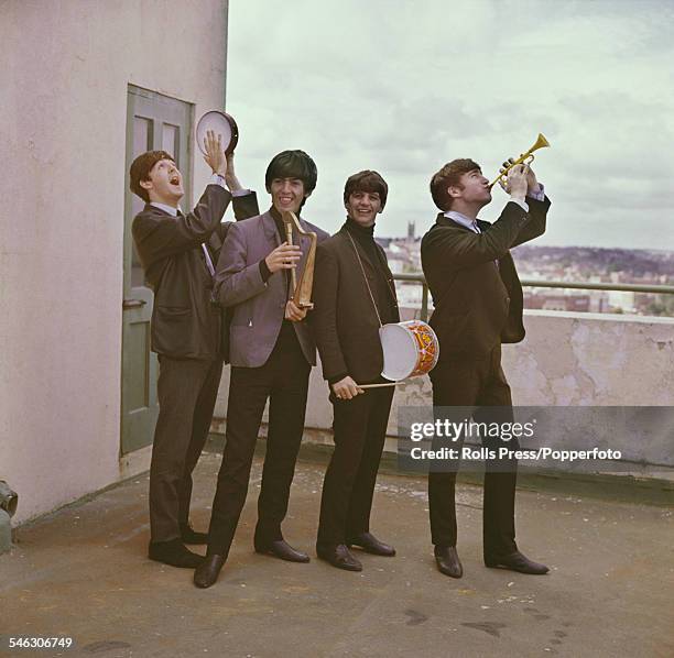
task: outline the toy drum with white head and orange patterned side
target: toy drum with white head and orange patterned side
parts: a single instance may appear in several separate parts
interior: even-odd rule
[[[384,366],[381,375],[394,382],[431,372],[439,357],[435,331],[421,320],[384,325],[379,330]]]

